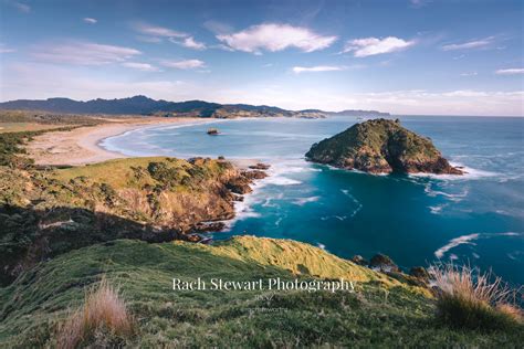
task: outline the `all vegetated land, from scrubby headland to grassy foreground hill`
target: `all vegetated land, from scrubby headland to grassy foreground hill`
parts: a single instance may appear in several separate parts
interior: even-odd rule
[[[22,166],[23,145],[42,131],[0,134],[0,348],[511,348],[524,340],[507,290],[471,269],[433,271],[434,297],[423,271],[423,279],[405,275],[387,256],[371,261],[376,272],[289,240],[174,242],[200,222],[232,218],[230,190],[247,191],[247,174],[202,158]],[[356,289],[172,290],[172,278],[197,277],[344,278]]]

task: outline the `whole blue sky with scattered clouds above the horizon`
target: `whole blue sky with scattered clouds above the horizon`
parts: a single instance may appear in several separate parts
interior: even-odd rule
[[[522,0],[0,0],[0,101],[524,115]]]

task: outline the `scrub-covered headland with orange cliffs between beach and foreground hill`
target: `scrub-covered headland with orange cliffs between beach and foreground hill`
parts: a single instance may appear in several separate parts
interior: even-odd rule
[[[69,169],[0,167],[0,284],[41,260],[115,239],[188,239],[200,222],[231,219],[230,180],[211,159],[118,159]]]

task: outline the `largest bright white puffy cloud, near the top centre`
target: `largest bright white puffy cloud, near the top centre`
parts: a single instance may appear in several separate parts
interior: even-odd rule
[[[328,47],[337,36],[323,36],[310,29],[289,24],[260,24],[232,34],[219,34],[217,39],[229,47],[260,54],[262,50],[275,52],[296,47],[313,52]]]

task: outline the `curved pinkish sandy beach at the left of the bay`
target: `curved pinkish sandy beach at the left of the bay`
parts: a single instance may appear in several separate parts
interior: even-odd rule
[[[199,118],[111,119],[107,124],[78,127],[70,131],[53,131],[35,137],[28,146],[29,157],[36,165],[77,166],[116,158],[125,158],[119,152],[108,151],[98,144],[101,140],[120,135],[132,129],[167,124],[205,123]]]

